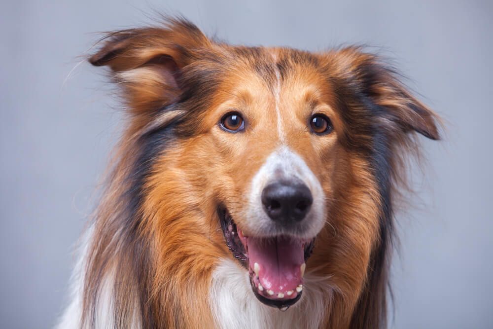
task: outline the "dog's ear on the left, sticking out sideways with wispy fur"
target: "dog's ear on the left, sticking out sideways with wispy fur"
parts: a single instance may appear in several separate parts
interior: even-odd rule
[[[112,32],[89,63],[107,66],[133,111],[157,110],[176,101],[182,92],[181,70],[196,51],[211,41],[192,23],[168,19],[162,28]]]

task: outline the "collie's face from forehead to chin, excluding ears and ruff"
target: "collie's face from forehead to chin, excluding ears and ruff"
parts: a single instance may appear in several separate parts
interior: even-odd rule
[[[254,63],[231,63],[198,143],[212,159],[202,173],[228,247],[257,297],[285,307],[301,295],[305,260],[329,220],[346,155],[323,76],[304,65],[281,72],[280,56],[266,49]]]

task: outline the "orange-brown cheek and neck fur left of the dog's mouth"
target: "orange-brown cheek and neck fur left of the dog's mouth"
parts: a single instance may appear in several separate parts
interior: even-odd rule
[[[143,231],[155,251],[154,308],[166,328],[213,327],[211,272],[227,255],[213,191],[201,181],[193,140],[159,158],[146,184]]]

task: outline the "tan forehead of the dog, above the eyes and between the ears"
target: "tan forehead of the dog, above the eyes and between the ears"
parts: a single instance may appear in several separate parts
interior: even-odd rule
[[[317,102],[327,89],[316,55],[290,48],[233,47],[224,81],[230,96],[266,104]],[[292,107],[283,107],[284,110]]]

